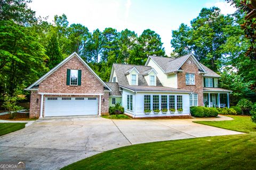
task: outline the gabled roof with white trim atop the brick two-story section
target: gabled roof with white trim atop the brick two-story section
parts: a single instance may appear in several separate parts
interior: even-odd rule
[[[188,60],[189,57],[192,58],[192,60],[196,63],[198,69],[201,70],[202,73],[206,73],[204,67],[196,60],[193,54],[187,54],[179,58],[149,56],[145,65],[148,64],[149,60],[153,60],[163,70],[165,74],[169,74],[172,72],[180,71],[180,67]]]

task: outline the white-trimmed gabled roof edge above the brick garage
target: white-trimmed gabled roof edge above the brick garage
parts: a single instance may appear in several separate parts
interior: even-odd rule
[[[57,71],[59,69],[59,67],[61,67],[65,63],[67,63],[72,57],[77,57],[87,67],[87,69],[89,69],[89,71],[103,84],[103,86],[105,88],[107,88],[107,90],[111,91],[111,89],[107,86],[107,84],[101,80],[101,78],[91,69],[91,67],[76,52],[69,55],[67,58],[65,58],[65,60],[63,60],[57,66],[55,66],[52,70],[50,70],[49,72],[44,74],[40,79],[38,79],[36,82],[31,84],[25,90],[36,90],[33,87],[38,86],[43,80],[45,80],[47,77],[49,77],[49,75],[51,75],[52,73]]]

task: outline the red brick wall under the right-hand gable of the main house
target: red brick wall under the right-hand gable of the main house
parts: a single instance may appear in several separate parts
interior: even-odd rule
[[[191,64],[188,63],[191,61]],[[189,57],[188,60],[181,66],[183,72],[177,73],[178,88],[191,90],[195,94],[198,94],[198,106],[204,106],[203,103],[203,75],[199,74],[198,67],[194,61]],[[186,73],[195,74],[195,85],[186,85]]]

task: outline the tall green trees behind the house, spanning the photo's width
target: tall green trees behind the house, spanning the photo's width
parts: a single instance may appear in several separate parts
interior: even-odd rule
[[[70,24],[65,14],[55,15],[49,23],[36,18],[28,3],[0,1],[0,94],[12,95],[15,89],[28,87],[73,52],[103,81],[109,80],[113,63],[143,65],[150,55],[167,57],[161,37],[153,30],[141,35],[128,29],[89,31],[80,23]],[[171,57],[193,53],[221,74],[220,87],[233,90],[234,104],[241,98],[256,98],[256,64],[245,55],[250,41],[240,26],[244,21],[241,10],[223,15],[217,7],[203,8],[190,25],[182,23],[172,31]]]

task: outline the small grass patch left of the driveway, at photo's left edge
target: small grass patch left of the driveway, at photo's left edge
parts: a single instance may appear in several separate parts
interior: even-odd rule
[[[0,136],[25,128],[26,123],[0,123]]]

